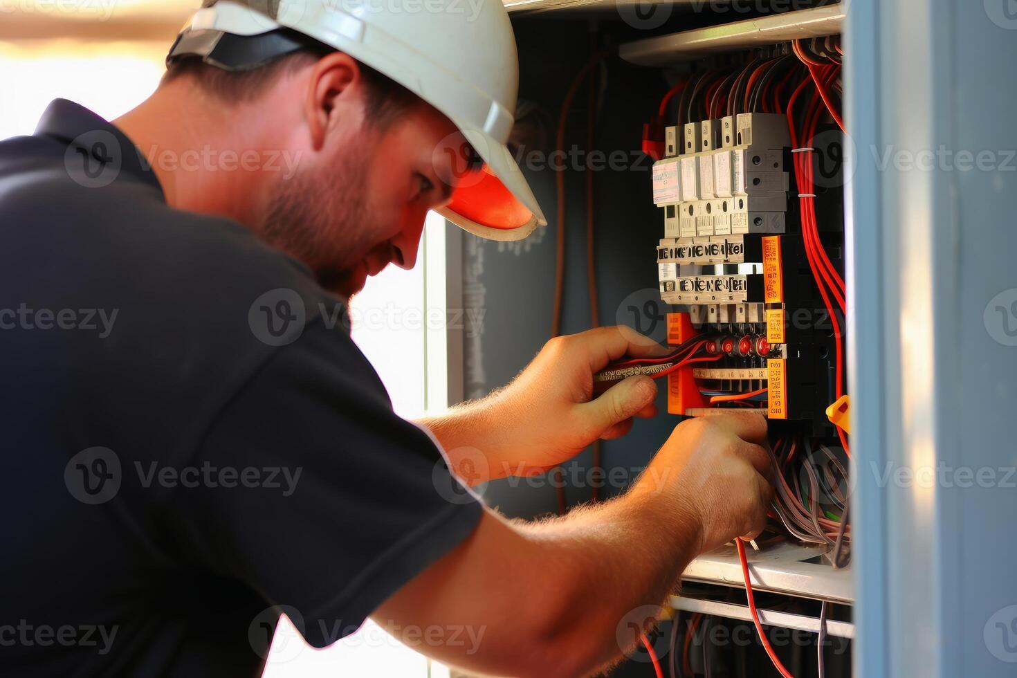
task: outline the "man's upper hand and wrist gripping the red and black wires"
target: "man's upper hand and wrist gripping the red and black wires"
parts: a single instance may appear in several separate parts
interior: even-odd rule
[[[421,423],[441,442],[454,469],[460,457],[469,459],[475,482],[538,475],[598,438],[624,435],[634,417],[655,416],[657,385],[650,377],[629,377],[594,397],[593,375],[626,356],[666,353],[623,325],[558,336],[504,388]],[[480,466],[487,468],[486,477],[477,476]]]

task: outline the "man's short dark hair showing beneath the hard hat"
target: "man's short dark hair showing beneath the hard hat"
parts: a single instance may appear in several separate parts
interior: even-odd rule
[[[178,59],[167,66],[161,85],[182,76],[192,77],[205,91],[224,102],[250,101],[261,95],[277,77],[310,65],[335,49],[309,46],[250,70],[229,71],[206,64],[197,57]],[[420,98],[387,75],[357,61],[367,90],[367,119],[384,127],[421,102]]]

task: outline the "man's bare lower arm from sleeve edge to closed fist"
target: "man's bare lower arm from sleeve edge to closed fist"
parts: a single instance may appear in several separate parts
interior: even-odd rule
[[[476,652],[423,650],[471,673],[603,672],[633,650],[633,625],[652,621],[695,556],[762,530],[773,494],[765,436],[757,414],[689,420],[621,496],[538,522],[488,510],[373,617],[397,628],[486,631]],[[540,605],[521,606],[521,591]]]

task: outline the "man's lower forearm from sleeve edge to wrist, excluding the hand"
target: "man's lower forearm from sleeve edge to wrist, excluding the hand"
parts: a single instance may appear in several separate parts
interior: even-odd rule
[[[468,542],[376,616],[485,629],[490,640],[471,656],[432,649],[436,659],[475,672],[599,671],[631,650],[634,624],[652,618],[698,552],[693,514],[656,480],[644,477],[621,497],[542,522],[487,513]]]

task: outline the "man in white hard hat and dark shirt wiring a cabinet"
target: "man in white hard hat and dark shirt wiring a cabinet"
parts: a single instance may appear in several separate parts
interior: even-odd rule
[[[137,109],[110,124],[57,101],[0,144],[0,669],[250,675],[280,611],[316,646],[372,616],[484,629],[422,648],[475,672],[609,665],[692,558],[761,530],[764,420],[685,422],[624,496],[539,523],[442,491],[456,481],[430,436],[480,483],[655,414],[645,377],[592,398],[594,372],[659,350],[613,327],[549,342],[420,428],[344,329],[345,297],[414,264],[428,210],[493,237],[543,221],[503,153],[504,10],[208,4]],[[450,41],[465,69],[488,63],[442,80],[427,69]],[[479,173],[443,152],[467,141]],[[270,168],[280,156],[299,159],[292,176]]]

